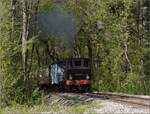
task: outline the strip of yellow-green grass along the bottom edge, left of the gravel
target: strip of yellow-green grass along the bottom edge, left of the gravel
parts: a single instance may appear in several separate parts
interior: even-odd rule
[[[25,105],[17,105],[11,107],[6,107],[3,109],[0,109],[0,114],[3,113],[21,113],[21,114],[27,114],[27,113],[36,113],[36,112],[64,112],[67,114],[83,114],[84,112],[87,112],[89,114],[94,114],[94,103],[87,103],[87,104],[77,104],[73,106],[62,106],[61,104],[54,104],[51,106],[47,106],[45,104],[28,107]]]

